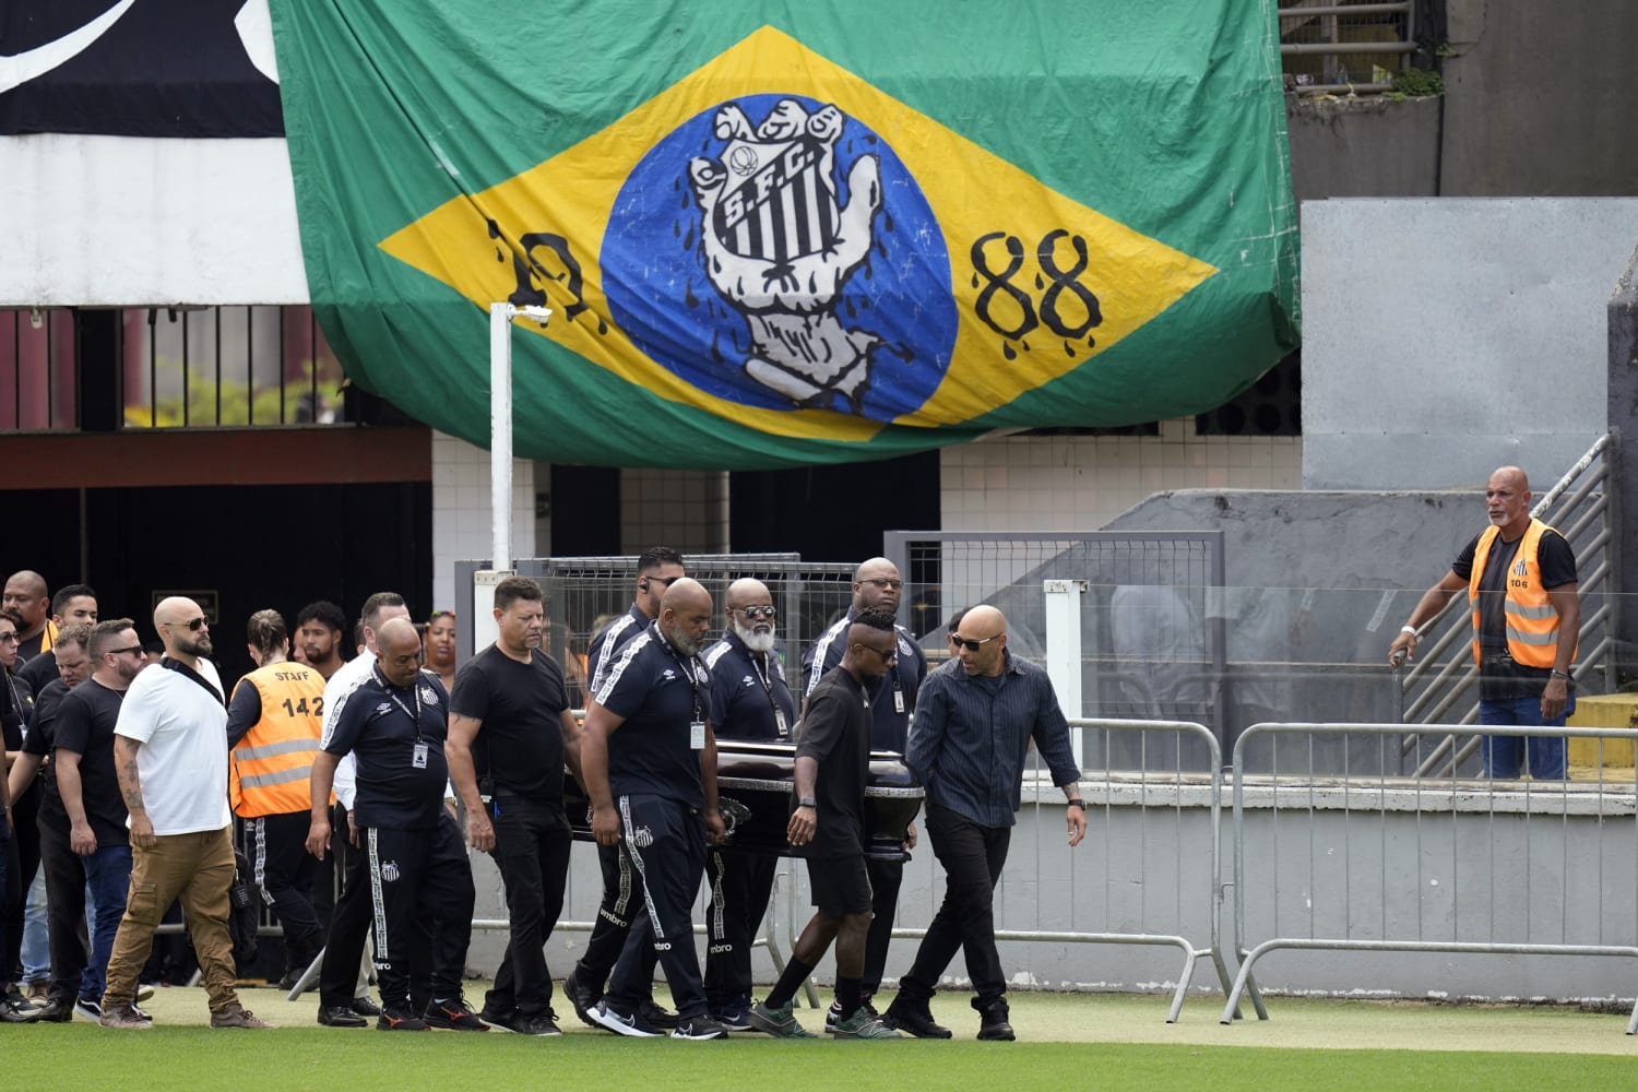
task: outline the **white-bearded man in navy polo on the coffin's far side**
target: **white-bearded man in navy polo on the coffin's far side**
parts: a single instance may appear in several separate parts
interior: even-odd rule
[[[773,596],[760,580],[735,580],[726,598],[727,629],[704,652],[711,668],[711,722],[719,740],[790,743],[796,701],[785,684],[773,620]],[[706,874],[706,1002],[731,1031],[750,1028],[750,946],[768,912],[780,858],[711,846]]]

